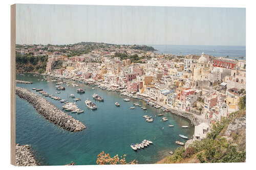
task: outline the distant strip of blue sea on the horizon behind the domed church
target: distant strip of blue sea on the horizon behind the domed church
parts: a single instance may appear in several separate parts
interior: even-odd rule
[[[154,47],[159,54],[189,55],[189,54],[210,54],[215,57],[229,56],[231,59],[245,60],[245,46],[225,45],[148,45]],[[243,58],[241,58],[243,57]]]

